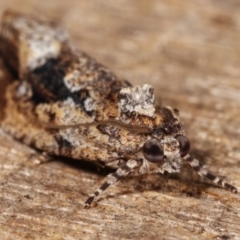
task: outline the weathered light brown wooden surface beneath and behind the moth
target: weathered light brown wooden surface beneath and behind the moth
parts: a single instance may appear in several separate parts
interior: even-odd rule
[[[180,110],[191,153],[240,187],[238,0],[1,0],[6,8],[58,21],[116,74],[152,84]],[[240,239],[240,194],[189,169],[126,179],[84,209],[107,171],[57,157],[35,165],[34,153],[0,130],[0,239]]]

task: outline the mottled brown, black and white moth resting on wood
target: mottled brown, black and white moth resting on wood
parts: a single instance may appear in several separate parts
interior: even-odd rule
[[[5,93],[2,129],[50,155],[116,169],[86,207],[127,175],[177,173],[184,163],[237,192],[189,155],[177,109],[156,105],[152,86],[118,78],[55,24],[7,11],[0,41],[1,56],[18,79]]]

